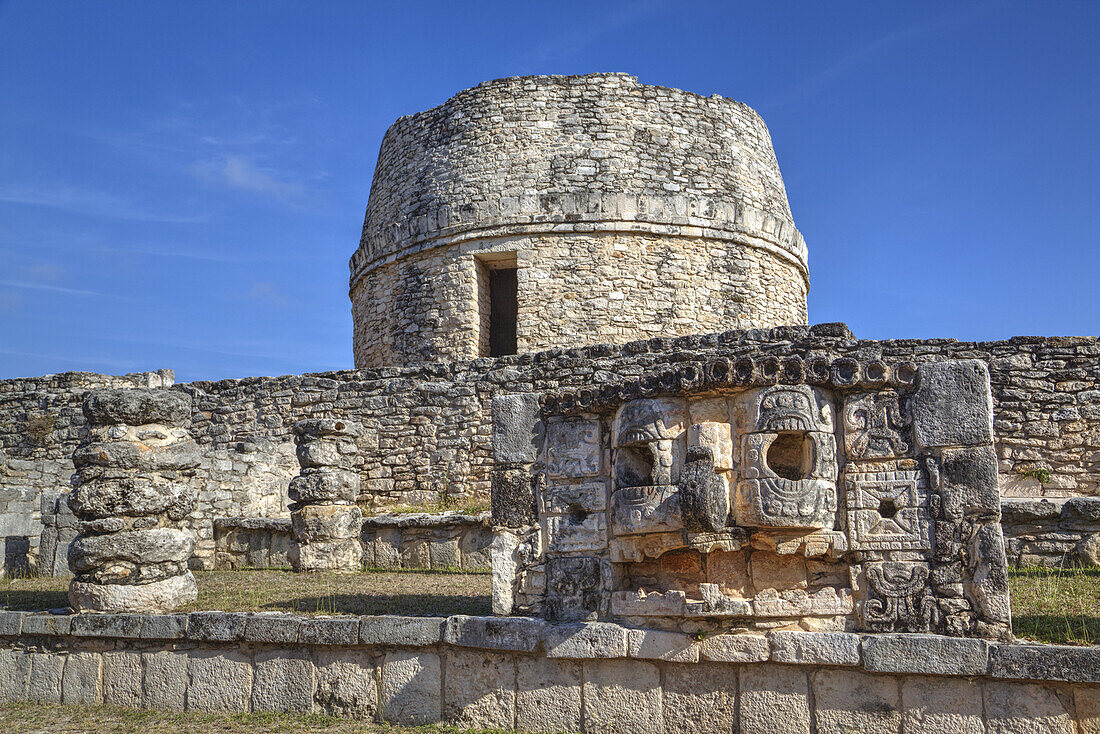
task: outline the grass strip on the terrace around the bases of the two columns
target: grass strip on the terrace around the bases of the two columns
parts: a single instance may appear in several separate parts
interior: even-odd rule
[[[490,576],[465,572],[295,573],[288,569],[196,571],[199,598],[182,611],[295,614],[491,614]],[[68,579],[0,580],[0,607],[68,606]]]

